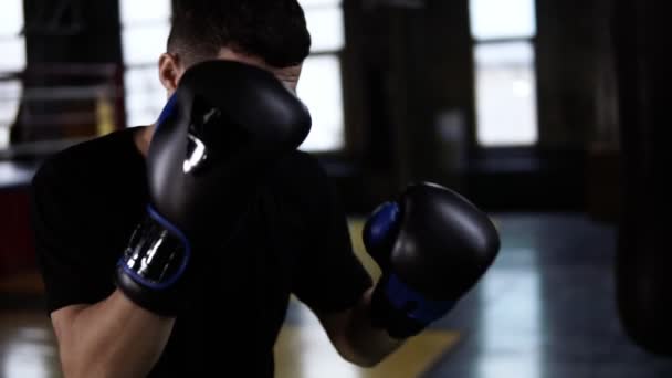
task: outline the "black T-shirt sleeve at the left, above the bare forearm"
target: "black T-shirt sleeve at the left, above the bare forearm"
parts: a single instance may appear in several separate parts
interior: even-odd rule
[[[67,182],[72,180],[48,161],[31,185],[31,222],[49,314],[67,305],[101,301],[112,282],[108,272],[102,274],[88,242],[91,230],[82,211],[88,206],[83,204],[86,199]]]

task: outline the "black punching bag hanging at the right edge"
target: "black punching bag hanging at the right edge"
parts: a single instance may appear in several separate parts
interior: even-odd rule
[[[615,6],[623,174],[617,306],[634,344],[672,356],[672,192],[665,183],[672,140],[664,133],[672,127],[670,12],[666,1]]]

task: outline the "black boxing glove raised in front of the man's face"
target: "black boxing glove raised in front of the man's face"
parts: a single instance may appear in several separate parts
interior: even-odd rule
[[[175,316],[195,258],[234,232],[264,172],[309,129],[307,108],[267,71],[219,60],[189,69],[157,122],[147,214],[119,260],[117,287]]]

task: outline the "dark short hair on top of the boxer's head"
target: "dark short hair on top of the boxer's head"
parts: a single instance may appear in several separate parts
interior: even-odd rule
[[[191,65],[221,48],[286,67],[303,62],[311,34],[296,0],[174,0],[168,52]]]

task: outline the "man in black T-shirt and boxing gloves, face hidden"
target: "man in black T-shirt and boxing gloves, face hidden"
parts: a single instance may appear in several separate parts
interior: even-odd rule
[[[176,168],[161,166],[166,165],[166,159],[153,155],[169,147],[165,137],[157,140],[157,133],[166,136],[171,130],[185,132],[193,124],[193,117],[207,123],[212,114],[195,111],[195,104],[202,98],[193,95],[190,99],[193,104],[189,105],[192,118],[183,124],[185,115],[176,115],[176,105],[171,104],[178,102],[177,107],[185,109],[180,104],[185,93],[197,93],[201,86],[212,84],[202,77],[187,81],[185,75],[195,71],[208,72],[193,69],[202,67],[202,62],[238,62],[271,73],[283,87],[295,91],[308,50],[309,35],[304,15],[294,0],[185,1],[175,10],[168,51],[159,60],[159,80],[171,98],[160,119],[155,125],[116,132],[66,149],[48,160],[35,175],[33,219],[39,261],[46,287],[48,311],[66,377],[191,377],[212,372],[224,376],[227,374],[222,371],[233,369],[243,369],[244,376],[249,377],[272,377],[273,346],[291,294],[315,312],[336,350],[346,360],[359,366],[374,366],[406,338],[445,314],[453,304],[452,300],[471,286],[492,262],[498,242],[482,214],[472,208],[463,211],[462,200],[452,193],[445,197],[447,192],[426,187],[416,190],[413,202],[417,204],[414,208],[423,209],[423,214],[413,216],[408,203],[401,209],[406,211],[387,206],[367,224],[367,246],[388,272],[387,279],[374,286],[353,253],[346,217],[326,174],[314,158],[296,150],[282,154],[277,159],[267,156],[264,161],[273,161],[267,166],[272,168],[267,169],[263,164],[250,166],[252,169],[231,165],[210,167],[227,174],[240,171],[244,179],[208,182],[207,186],[217,188],[210,190],[209,196],[196,196],[195,201],[201,206],[198,211],[219,212],[222,219],[233,222],[218,224],[210,218],[206,222],[191,217],[190,221],[180,223],[176,219],[180,216],[172,212],[172,218],[166,217],[167,222],[157,223],[157,220],[166,220],[162,214],[170,212],[162,207],[161,197],[179,186],[171,180],[153,186],[151,180],[147,180],[159,170]],[[246,75],[251,69],[243,65],[237,65],[234,70]],[[221,71],[212,72],[218,75],[217,80],[228,77],[229,83],[241,82],[231,86],[254,82],[246,78],[235,81],[231,72],[221,73],[222,77],[219,76]],[[253,72],[250,75],[263,76]],[[270,81],[263,77],[261,81],[261,91],[284,96]],[[222,88],[222,98],[238,98],[230,93],[234,90],[227,85],[219,87]],[[224,95],[227,91],[230,92]],[[214,97],[206,98],[206,103],[221,99]],[[240,111],[233,108],[238,105],[228,107],[227,102],[217,106],[224,114],[222,117]],[[253,106],[263,108],[266,104]],[[279,114],[284,112],[284,107],[269,108]],[[228,130],[224,126],[232,123],[227,120],[213,129]],[[239,126],[245,127],[245,123],[243,119]],[[203,137],[206,147],[212,141],[212,137],[208,138]],[[232,150],[239,148],[237,143],[227,141]],[[190,174],[191,168],[185,166],[183,172]],[[258,171],[259,182],[254,177]],[[249,178],[252,182],[246,190],[245,180]],[[228,196],[229,190],[237,196]],[[240,199],[238,195],[241,195]],[[224,206],[206,209],[210,200]],[[166,203],[171,206],[174,202]],[[454,275],[460,284],[449,283],[452,286],[449,301],[441,297],[447,290],[438,288],[447,284],[439,279],[443,272],[424,271],[434,271],[430,266],[434,263],[447,266],[450,259],[437,255],[432,248],[443,248],[444,235],[454,233],[432,231],[422,240],[414,240],[418,231],[412,225],[419,224],[413,217],[424,218],[426,214],[452,222],[449,218],[454,217],[452,209],[458,202],[462,207],[458,223],[466,222],[472,227],[461,228],[464,237],[458,238],[455,245],[469,244],[463,248],[466,253],[475,255],[482,252],[482,255],[466,259],[466,265],[475,261],[477,272]],[[159,213],[150,225],[146,225],[147,203],[154,203],[156,213]],[[239,204],[246,210],[239,211]],[[191,207],[177,210],[178,213],[191,211],[197,210]],[[468,216],[464,217],[465,212]],[[405,221],[411,227],[402,225],[401,217],[407,217]],[[201,223],[193,228],[192,233],[179,237],[181,232],[174,225],[189,223],[193,219]],[[157,228],[161,229],[158,232],[160,237],[156,237]],[[203,243],[201,239],[200,244],[197,241],[195,244],[199,248],[190,252],[193,263],[187,263],[186,251],[190,250],[187,245],[191,243],[188,239],[199,231],[195,238],[209,241]],[[166,234],[172,234],[172,241],[168,242],[170,235],[166,239]],[[462,239],[470,239],[472,234],[480,246],[463,243]],[[406,248],[397,251],[397,255],[411,252],[412,262],[417,255],[433,254],[434,261],[431,264],[426,263],[429,260],[421,264],[412,263],[413,267],[398,269],[398,262],[391,258],[398,244],[397,237],[390,235],[407,238],[406,241],[413,241],[413,248],[418,249]],[[217,242],[219,237],[221,243]],[[138,238],[143,241],[138,242]],[[140,245],[147,239],[151,239],[150,248]],[[170,284],[174,281],[188,282],[179,295],[162,295],[158,280],[143,276],[145,265],[153,263],[153,253],[161,242],[171,245],[166,259],[179,260],[176,264],[161,262],[165,266],[160,267],[172,272],[170,276],[176,277],[168,281]],[[208,253],[204,253],[203,245],[210,250]],[[198,264],[197,259],[200,259]],[[188,280],[181,276],[185,266],[189,272],[186,274],[191,274]],[[461,269],[469,271],[469,266]],[[431,280],[420,279],[421,275]],[[417,291],[398,282],[397,276],[402,277],[406,284],[414,283]],[[430,295],[433,300],[422,297],[421,293],[431,292],[426,290],[428,287],[437,288]],[[372,301],[374,296],[378,300]],[[175,307],[174,300],[179,302]],[[170,306],[166,302],[170,302]]]

